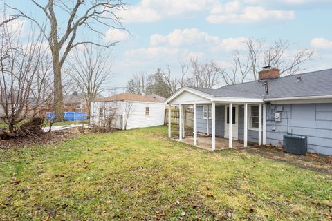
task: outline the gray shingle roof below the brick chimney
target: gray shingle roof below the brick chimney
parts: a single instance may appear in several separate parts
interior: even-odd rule
[[[332,69],[268,79],[268,98],[332,95]],[[223,86],[218,89],[195,88],[214,97],[267,97],[263,81]]]

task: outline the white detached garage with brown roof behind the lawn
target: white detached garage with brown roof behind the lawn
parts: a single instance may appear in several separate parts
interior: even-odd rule
[[[113,117],[113,127],[123,130],[163,125],[164,116],[165,98],[158,95],[120,93],[91,104],[91,124],[103,125]]]

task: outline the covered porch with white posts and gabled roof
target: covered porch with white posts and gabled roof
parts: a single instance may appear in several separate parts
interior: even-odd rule
[[[179,142],[193,144],[211,151],[246,148],[248,141],[259,145],[266,144],[266,106],[261,99],[214,97],[197,93],[190,88],[182,90],[175,93],[174,97],[167,99],[169,110],[172,106],[177,106],[179,109],[178,137],[176,136]],[[192,135],[185,133],[184,126],[183,111],[188,106],[194,112]],[[257,112],[255,116],[252,116],[253,111],[250,112],[254,109],[252,107],[255,107]],[[170,112],[168,114],[169,138],[173,138]],[[253,122],[254,117],[255,122]],[[252,122],[249,119],[252,119]],[[249,121],[250,128],[248,128]],[[252,128],[253,126],[255,128]],[[202,132],[205,136],[198,137],[198,134]],[[248,132],[250,132],[251,140],[248,140]],[[255,137],[252,137],[252,134],[255,134]]]

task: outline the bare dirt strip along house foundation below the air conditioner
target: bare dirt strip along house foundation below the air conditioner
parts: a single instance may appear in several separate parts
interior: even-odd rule
[[[307,155],[294,155],[285,153],[282,148],[273,146],[243,148],[239,151],[245,151],[259,155],[261,157],[277,160],[279,162],[288,162],[303,169],[311,169],[320,173],[332,175],[332,157],[308,153]]]

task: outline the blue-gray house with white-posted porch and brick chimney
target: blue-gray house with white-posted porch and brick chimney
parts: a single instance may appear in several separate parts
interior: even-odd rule
[[[180,118],[183,106],[194,107],[194,145],[197,133],[211,135],[212,150],[216,137],[227,138],[232,148],[239,140],[245,147],[283,146],[284,135],[293,134],[307,136],[309,152],[332,155],[332,69],[280,77],[277,68],[266,67],[258,81],[218,89],[185,86],[166,104],[178,106]],[[178,133],[183,140],[181,124]]]

